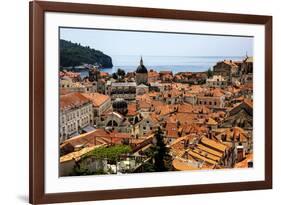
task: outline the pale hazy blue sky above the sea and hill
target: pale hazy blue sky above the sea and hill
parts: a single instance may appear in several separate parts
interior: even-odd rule
[[[60,38],[109,56],[253,55],[253,37],[60,28]]]

